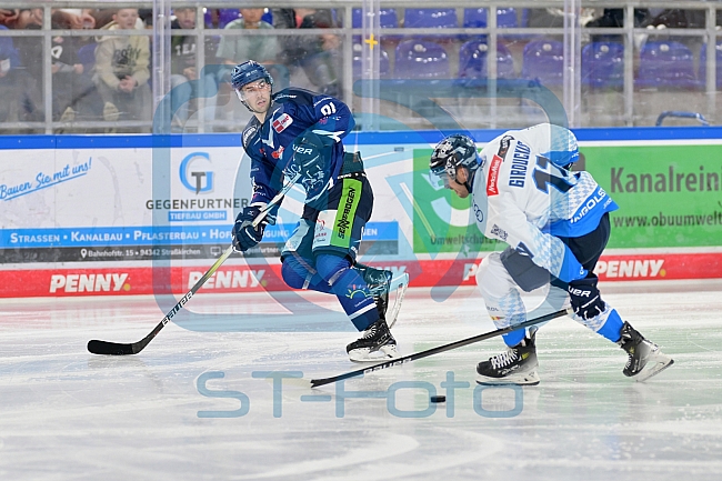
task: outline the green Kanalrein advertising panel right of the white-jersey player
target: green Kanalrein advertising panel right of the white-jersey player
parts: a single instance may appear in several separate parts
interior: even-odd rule
[[[720,245],[722,146],[584,147],[619,204],[609,248]]]

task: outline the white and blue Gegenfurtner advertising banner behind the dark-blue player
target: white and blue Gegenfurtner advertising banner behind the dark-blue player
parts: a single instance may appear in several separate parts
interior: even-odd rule
[[[0,262],[215,259],[250,199],[241,156],[238,148],[172,149],[159,182],[150,149],[14,151],[0,172]],[[245,257],[280,254],[300,213],[300,202],[287,204]],[[370,222],[361,253],[395,255],[398,239],[398,222]]]

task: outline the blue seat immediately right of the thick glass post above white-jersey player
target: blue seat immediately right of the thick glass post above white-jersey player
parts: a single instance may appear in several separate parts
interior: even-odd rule
[[[624,46],[592,42],[582,48],[582,84],[593,88],[624,87]]]

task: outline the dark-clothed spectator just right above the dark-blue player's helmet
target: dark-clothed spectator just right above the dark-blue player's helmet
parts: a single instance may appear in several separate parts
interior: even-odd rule
[[[273,10],[277,29],[329,29],[338,27],[330,10]],[[313,90],[339,97],[337,76],[340,40],[335,34],[283,36],[279,60],[289,68],[301,67],[313,84]]]

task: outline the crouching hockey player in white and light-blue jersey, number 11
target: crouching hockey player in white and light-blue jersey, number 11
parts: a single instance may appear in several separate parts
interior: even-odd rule
[[[445,188],[472,196],[485,237],[509,244],[484,258],[477,273],[498,328],[527,321],[521,291],[550,284],[541,308],[548,311],[538,313],[571,302],[574,320],[628,353],[624,375],[645,380],[673,361],[602,300],[593,270],[609,240],[609,212],[618,206],[589,172],[571,171],[578,159],[574,134],[542,123],[508,131],[480,153],[469,137],[450,136],[437,144],[430,167]],[[505,334],[507,351],[478,364],[478,382],[538,384],[535,332]]]

